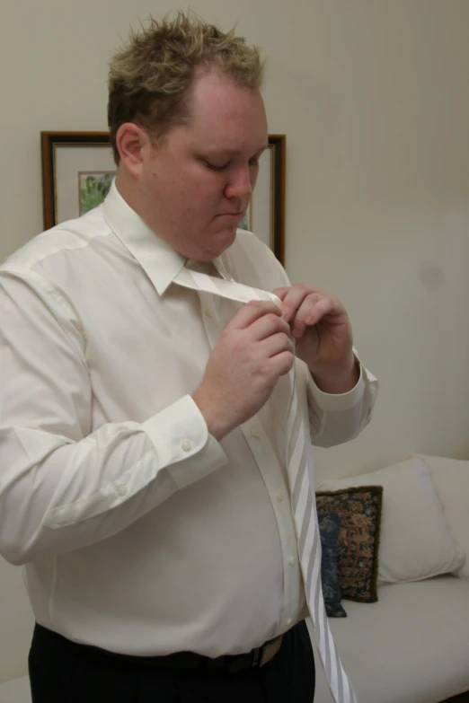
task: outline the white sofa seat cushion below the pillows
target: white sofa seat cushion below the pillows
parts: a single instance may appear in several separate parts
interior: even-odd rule
[[[359,703],[437,703],[469,690],[469,583],[438,576],[378,588],[329,620]],[[315,653],[317,703],[332,703]]]

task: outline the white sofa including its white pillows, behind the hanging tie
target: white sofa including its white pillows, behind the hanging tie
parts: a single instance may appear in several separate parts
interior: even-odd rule
[[[450,699],[469,690],[469,461],[414,456],[319,488],[376,484],[384,487],[378,602],[343,600],[348,617],[331,618],[332,632],[359,703]],[[454,575],[434,574],[447,569]],[[331,703],[320,666],[316,677],[314,703]]]

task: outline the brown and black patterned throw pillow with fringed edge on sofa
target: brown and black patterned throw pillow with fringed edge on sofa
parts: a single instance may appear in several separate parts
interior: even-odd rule
[[[358,486],[316,493],[318,513],[341,515],[337,567],[342,598],[350,601],[377,601],[382,502],[382,486]]]

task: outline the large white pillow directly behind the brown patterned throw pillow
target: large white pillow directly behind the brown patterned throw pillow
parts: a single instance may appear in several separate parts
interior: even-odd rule
[[[318,490],[349,486],[383,486],[378,584],[419,581],[463,566],[465,555],[420,456],[360,476],[325,480]]]

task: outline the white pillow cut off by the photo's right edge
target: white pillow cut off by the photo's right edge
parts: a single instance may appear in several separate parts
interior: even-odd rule
[[[469,580],[469,461],[421,455],[427,464],[449,529],[465,553],[456,576]]]

